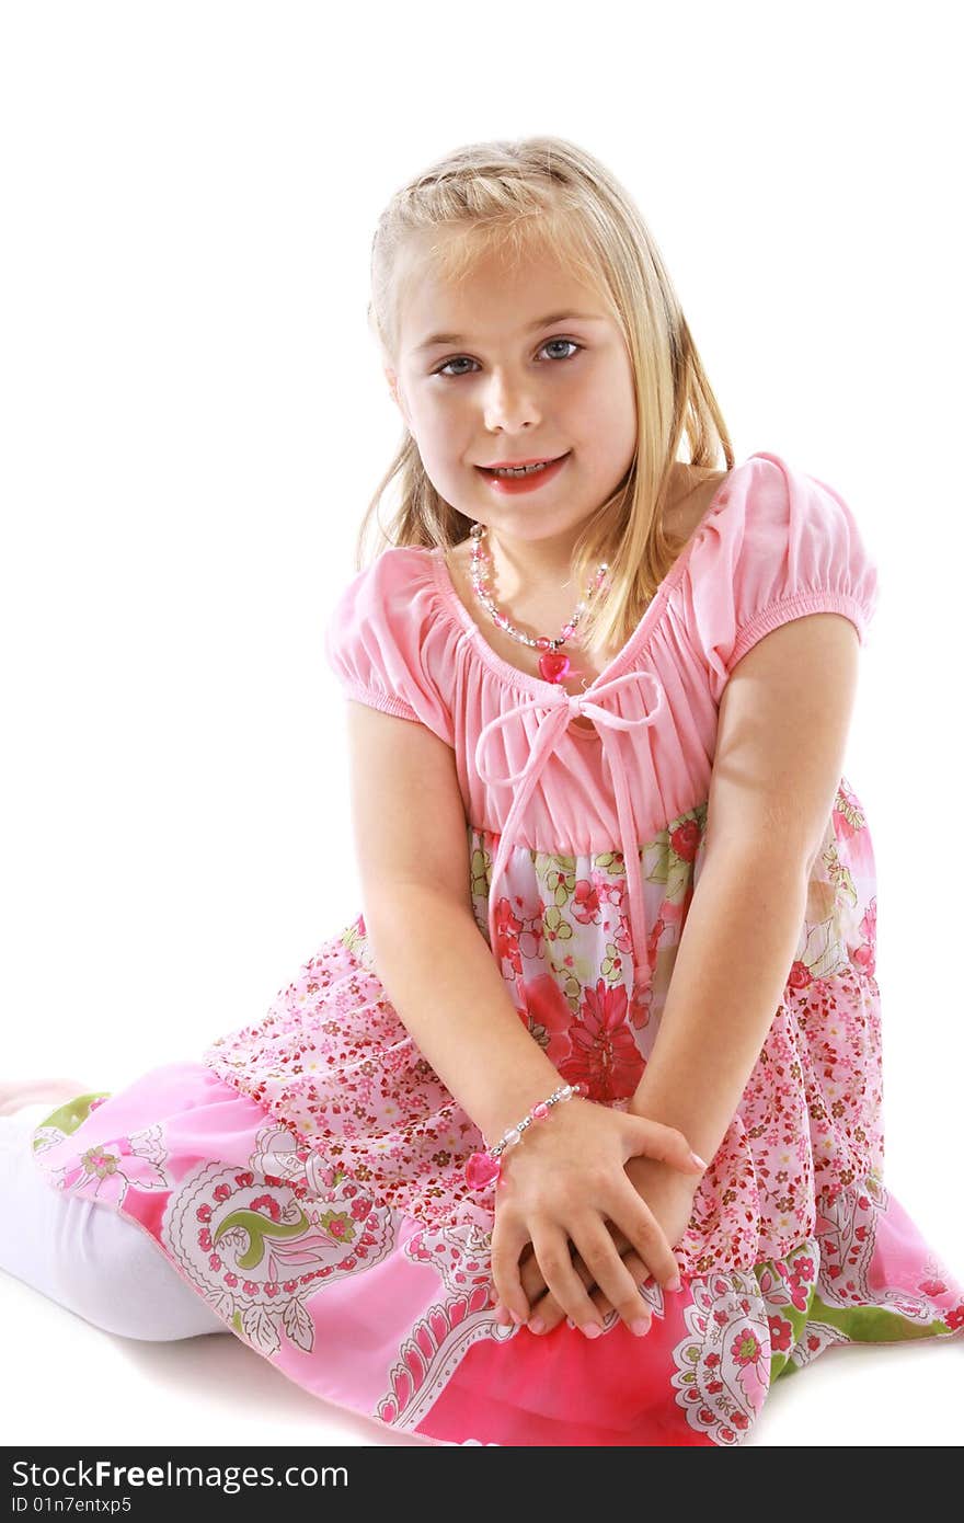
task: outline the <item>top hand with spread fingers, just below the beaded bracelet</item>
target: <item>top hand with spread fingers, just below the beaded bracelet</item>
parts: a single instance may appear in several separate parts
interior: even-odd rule
[[[602,1331],[586,1282],[573,1264],[570,1240],[591,1270],[589,1284],[599,1285],[629,1325],[641,1320],[638,1284],[617,1252],[608,1221],[624,1234],[658,1281],[667,1288],[678,1284],[672,1246],[626,1171],[626,1161],[641,1153],[659,1161],[670,1174],[681,1171],[696,1189],[694,1174],[702,1176],[702,1165],[681,1132],[579,1097],[560,1106],[544,1125],[530,1127],[521,1145],[503,1156],[492,1279],[495,1295],[518,1320],[530,1314],[519,1253],[531,1243],[542,1282],[560,1314]]]

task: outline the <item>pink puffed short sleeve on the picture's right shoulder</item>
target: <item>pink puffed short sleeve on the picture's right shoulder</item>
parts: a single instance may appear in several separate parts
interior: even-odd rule
[[[860,644],[877,567],[844,498],[778,455],[751,455],[722,493],[690,562],[690,618],[714,696],[763,635],[804,614],[844,614]]]

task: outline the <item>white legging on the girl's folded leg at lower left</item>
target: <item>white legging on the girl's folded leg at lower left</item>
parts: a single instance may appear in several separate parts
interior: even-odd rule
[[[143,1228],[44,1179],[32,1132],[52,1109],[47,1100],[0,1116],[0,1269],[120,1337],[230,1333]]]

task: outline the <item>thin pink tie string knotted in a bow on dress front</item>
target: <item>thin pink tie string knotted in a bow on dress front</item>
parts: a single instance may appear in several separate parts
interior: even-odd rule
[[[614,714],[611,710],[605,708],[599,699],[609,698],[621,687],[627,687],[630,682],[640,682],[647,679],[653,684],[656,690],[656,705],[650,714],[643,714],[640,719],[624,719],[621,714]],[[489,941],[492,952],[498,958],[498,940],[496,940],[496,917],[498,917],[498,892],[496,883],[506,871],[509,862],[509,851],[512,850],[512,836],[518,821],[522,818],[528,800],[531,798],[533,789],[542,775],[542,769],[548,762],[550,752],[556,748],[556,742],[567,730],[570,720],[577,714],[586,714],[595,728],[599,730],[600,740],[603,743],[603,755],[609,766],[609,775],[612,777],[612,786],[615,790],[615,809],[620,822],[620,839],[623,850],[623,862],[626,864],[626,883],[629,888],[629,928],[632,935],[632,967],[634,967],[634,987],[641,978],[641,963],[646,949],[646,915],[643,906],[643,879],[640,874],[640,847],[635,838],[635,825],[632,818],[632,804],[629,795],[629,780],[626,777],[626,768],[620,757],[618,740],[612,734],[614,730],[641,730],[646,725],[652,725],[662,711],[666,702],[666,690],[653,672],[644,669],[637,669],[634,672],[626,672],[623,676],[609,678],[608,682],[594,684],[585,693],[567,693],[563,687],[557,688],[559,698],[553,702],[548,696],[542,698],[525,698],[521,704],[513,708],[504,710],[496,714],[495,719],[489,720],[487,725],[480,731],[475,745],[475,771],[483,783],[518,783],[512,807],[509,809],[509,818],[501,832],[498,850],[495,853],[495,865],[492,868],[492,883],[489,886]],[[507,775],[500,775],[498,771],[489,771],[486,762],[487,754],[492,749],[490,742],[503,725],[507,725],[518,714],[525,713],[530,708],[545,708],[548,710],[547,717],[542,720],[536,731],[536,737],[528,754],[525,766],[519,768],[518,772]],[[501,966],[501,958],[500,966]]]

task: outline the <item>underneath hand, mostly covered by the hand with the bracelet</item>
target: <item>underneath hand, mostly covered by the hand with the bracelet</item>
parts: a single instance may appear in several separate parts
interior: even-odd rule
[[[652,1157],[630,1157],[626,1164],[626,1174],[629,1176],[632,1185],[646,1200],[647,1206],[653,1212],[658,1224],[666,1234],[667,1241],[676,1247],[682,1240],[682,1235],[690,1224],[690,1217],[693,1215],[693,1199],[699,1189],[699,1180],[693,1180],[678,1171],[667,1168],[658,1159]],[[637,1285],[643,1285],[652,1281],[652,1273],[649,1266],[635,1252],[632,1243],[626,1238],[623,1232],[612,1223],[608,1228],[614,1238],[614,1246],[620,1253],[627,1272]],[[522,1255],[522,1288],[528,1298],[531,1314],[528,1325],[538,1319],[542,1327],[533,1331],[551,1333],[554,1327],[565,1316],[562,1307],[547,1288],[545,1279],[539,1269],[539,1261],[531,1252],[531,1244],[528,1244],[527,1252]],[[609,1298],[595,1287],[591,1272],[586,1269],[583,1260],[576,1255],[573,1258],[573,1267],[583,1285],[589,1292],[589,1299],[597,1308],[600,1316],[606,1316],[612,1311],[612,1302]],[[640,1317],[647,1323],[652,1322],[652,1314],[646,1302],[640,1302]],[[509,1313],[504,1308],[496,1307],[496,1319],[500,1322],[509,1322]]]

